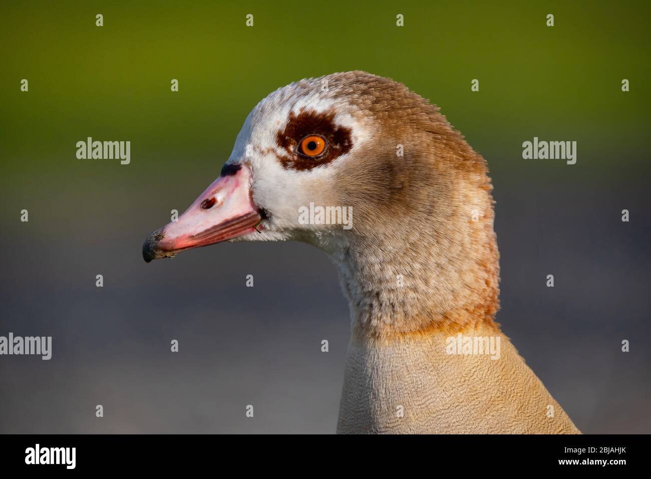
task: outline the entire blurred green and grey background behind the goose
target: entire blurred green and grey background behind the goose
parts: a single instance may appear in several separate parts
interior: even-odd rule
[[[0,335],[53,353],[0,356],[0,432],[335,431],[350,320],[324,254],[221,244],[146,265],[141,244],[266,94],[357,69],[430,98],[488,160],[497,321],[579,429],[651,432],[650,4],[420,3],[3,3]],[[88,136],[131,141],[131,164],[78,160]],[[577,163],[523,160],[534,136],[577,141]]]

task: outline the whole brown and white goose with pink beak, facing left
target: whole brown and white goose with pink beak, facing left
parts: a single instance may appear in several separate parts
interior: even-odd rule
[[[439,108],[335,73],[260,101],[219,177],[143,257],[223,241],[323,250],[350,306],[337,433],[579,433],[495,322],[493,218],[486,161]]]

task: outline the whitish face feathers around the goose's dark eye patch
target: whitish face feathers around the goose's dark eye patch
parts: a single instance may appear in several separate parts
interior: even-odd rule
[[[327,78],[327,77],[326,77]],[[351,131],[352,149],[333,162],[297,171],[283,167],[279,157],[286,154],[277,143],[277,134],[290,120],[290,113],[334,111],[334,123]],[[228,163],[245,163],[251,167],[251,191],[254,203],[270,213],[263,223],[262,234],[250,233],[237,240],[309,240],[323,225],[299,224],[299,209],[310,203],[346,206],[333,197],[333,176],[344,168],[370,138],[370,119],[346,102],[344,95],[322,89],[322,79],[301,80],[278,89],[260,101],[249,113]],[[319,132],[313,132],[318,134]],[[298,139],[299,140],[299,139]]]

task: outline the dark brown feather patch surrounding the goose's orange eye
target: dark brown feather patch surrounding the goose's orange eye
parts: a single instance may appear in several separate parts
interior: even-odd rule
[[[298,114],[290,111],[284,130],[276,134],[276,143],[284,150],[278,159],[283,167],[299,171],[325,165],[350,151],[353,146],[350,134],[350,128],[335,124],[333,110],[317,113],[301,109]],[[317,158],[310,158],[299,151],[301,139],[311,135],[326,140],[326,150]]]

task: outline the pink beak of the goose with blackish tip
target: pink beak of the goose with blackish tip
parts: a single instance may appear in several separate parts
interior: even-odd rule
[[[143,244],[143,258],[173,257],[176,253],[208,246],[256,231],[262,220],[251,199],[251,170],[227,164],[221,175],[194,203],[162,229],[151,233]]]

